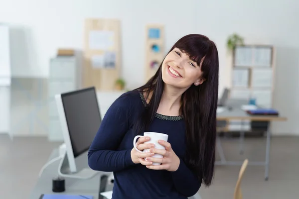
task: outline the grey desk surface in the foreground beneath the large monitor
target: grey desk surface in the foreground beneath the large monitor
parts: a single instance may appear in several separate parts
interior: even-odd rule
[[[54,149],[49,157],[49,160],[58,156],[58,149]],[[76,166],[78,169],[88,167],[87,152],[76,158]],[[41,194],[55,194],[52,192],[52,179],[57,177],[59,160],[50,164],[43,171],[41,177],[37,180],[36,185],[31,192],[29,199],[39,199]],[[70,194],[70,195],[90,195],[94,199],[99,199],[100,190],[100,179],[101,176],[109,176],[111,172],[99,172],[95,177],[88,180],[77,180],[66,178],[65,179],[65,192],[58,194]],[[105,191],[111,191],[113,189],[113,184],[107,184]],[[201,199],[199,194],[188,199]]]

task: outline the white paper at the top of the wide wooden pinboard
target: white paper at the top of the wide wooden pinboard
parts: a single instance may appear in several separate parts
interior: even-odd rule
[[[89,32],[89,49],[91,50],[113,50],[114,32],[109,30],[92,30]]]

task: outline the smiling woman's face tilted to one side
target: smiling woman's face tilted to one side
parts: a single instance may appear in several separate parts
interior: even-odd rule
[[[201,67],[178,48],[167,54],[161,70],[163,82],[176,88],[187,89],[192,84],[198,86],[204,82]]]

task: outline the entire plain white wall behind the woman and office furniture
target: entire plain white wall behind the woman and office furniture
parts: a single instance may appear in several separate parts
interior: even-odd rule
[[[287,122],[274,124],[274,133],[299,134],[297,0],[0,0],[0,5],[0,20],[12,25],[15,38],[13,76],[47,77],[48,60],[58,47],[82,49],[86,17],[121,19],[122,75],[130,88],[144,82],[147,23],[165,24],[166,50],[189,33],[214,40],[220,90],[230,86],[225,46],[229,34],[239,33],[246,43],[273,44],[277,48],[275,107],[288,117]]]

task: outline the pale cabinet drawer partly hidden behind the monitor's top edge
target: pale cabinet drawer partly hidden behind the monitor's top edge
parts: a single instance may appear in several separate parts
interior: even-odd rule
[[[54,98],[56,94],[75,91],[76,86],[73,82],[49,82],[48,97]]]

